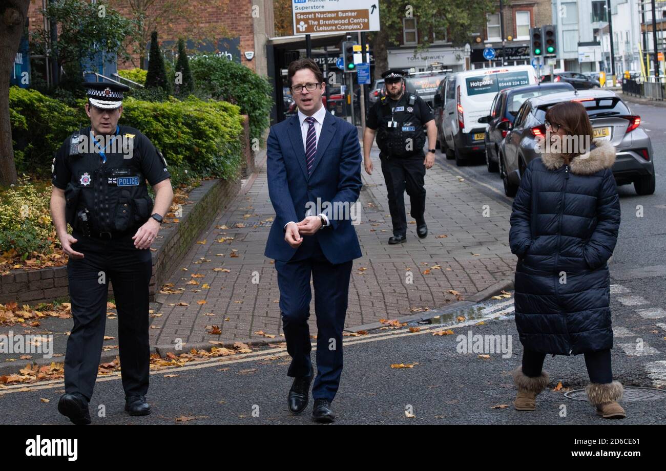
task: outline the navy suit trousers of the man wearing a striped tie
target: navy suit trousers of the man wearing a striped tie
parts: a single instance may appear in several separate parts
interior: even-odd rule
[[[317,376],[312,397],[332,401],[342,374],[342,330],[347,313],[352,261],[334,265],[312,236],[298,248],[290,261],[275,261],[280,287],[282,330],[292,357],[287,375],[304,377],[312,371],[310,351],[310,300],[314,287],[317,316]]]

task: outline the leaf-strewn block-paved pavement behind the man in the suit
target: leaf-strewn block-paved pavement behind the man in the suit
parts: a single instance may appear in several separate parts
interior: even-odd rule
[[[372,158],[372,175],[362,170],[356,232],[363,257],[354,260],[346,328],[442,307],[457,300],[449,290],[465,297],[513,279],[516,258],[508,247],[511,208],[438,164],[426,173],[428,237],[416,236],[405,195],[407,241],[388,245],[392,226],[376,147]],[[265,151],[257,161],[252,186],[222,212],[170,277],[170,290],[176,293],[157,295],[161,316],[151,319],[152,346],[172,347],[176,339],[190,346],[266,339],[256,333],[260,331],[281,339],[276,271],[272,260],[264,257],[274,217]],[[309,322],[311,335],[316,335],[314,296]],[[208,333],[206,326],[212,325],[221,334]]]

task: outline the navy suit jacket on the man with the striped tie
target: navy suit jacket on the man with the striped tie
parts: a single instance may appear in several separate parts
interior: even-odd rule
[[[289,261],[298,250],[311,245],[306,244],[305,239],[314,237],[330,263],[361,257],[350,219],[350,216],[360,216],[352,206],[362,187],[362,157],[356,126],[326,111],[310,176],[298,115],[271,126],[266,146],[268,194],[275,209],[275,220],[264,255]],[[316,208],[318,198],[320,208]],[[284,240],[284,225],[302,221],[309,208],[314,216],[326,214],[331,227],[321,228],[313,236],[302,236],[301,246],[294,249]]]

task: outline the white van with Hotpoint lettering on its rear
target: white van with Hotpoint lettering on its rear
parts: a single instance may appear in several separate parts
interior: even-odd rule
[[[471,152],[484,152],[486,124],[478,119],[490,114],[496,94],[504,88],[536,84],[531,65],[514,65],[458,72],[446,77],[435,106],[443,108],[438,122],[438,140],[446,158],[462,165]]]

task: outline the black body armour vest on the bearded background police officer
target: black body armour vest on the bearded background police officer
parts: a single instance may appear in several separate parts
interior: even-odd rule
[[[396,158],[423,153],[426,134],[415,105],[416,95],[411,93],[403,93],[394,106],[387,96],[382,96],[377,136],[377,145],[382,153]]]

